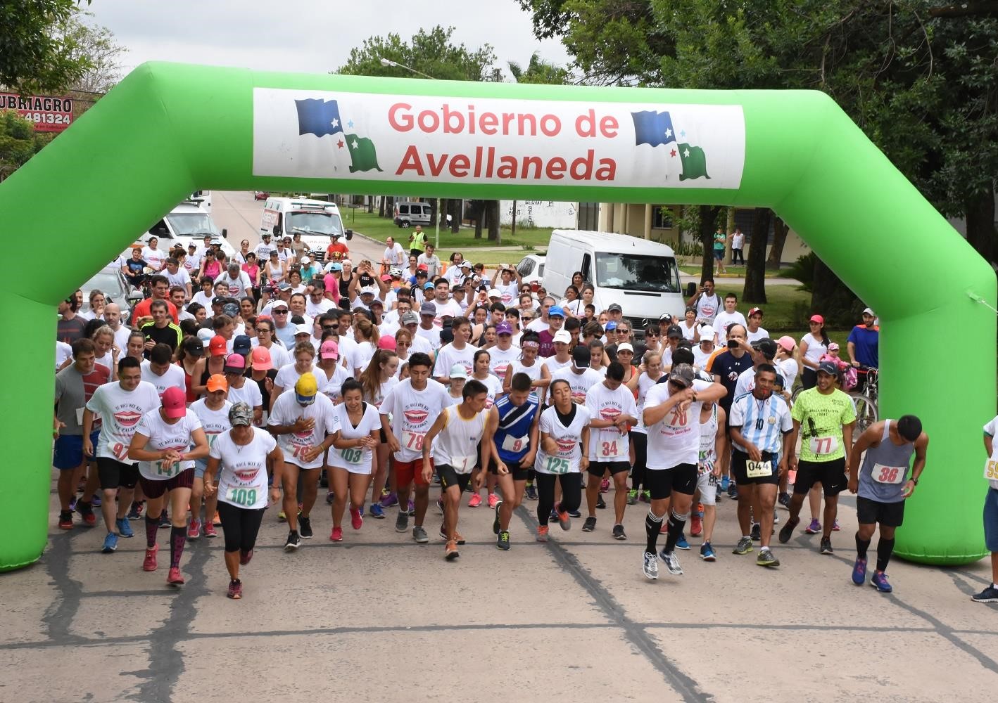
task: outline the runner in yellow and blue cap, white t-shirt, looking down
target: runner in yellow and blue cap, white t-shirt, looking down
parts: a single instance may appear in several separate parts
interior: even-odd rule
[[[305,346],[311,349],[310,344]],[[295,349],[295,356],[297,355]],[[318,492],[322,454],[332,445],[332,435],[337,429],[332,409],[332,401],[318,393],[315,376],[308,372],[294,383],[294,392],[278,396],[270,410],[267,430],[277,437],[277,446],[284,457],[281,478],[284,488],[283,513],[288,527],[285,551],[297,549],[301,545],[301,539],[312,537],[309,516]],[[297,500],[299,475],[302,494],[300,504]]]

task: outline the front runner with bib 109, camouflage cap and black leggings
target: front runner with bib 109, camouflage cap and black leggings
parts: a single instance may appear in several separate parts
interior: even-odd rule
[[[217,436],[205,470],[205,495],[218,502],[226,534],[228,595],[235,600],[243,597],[240,566],[250,563],[267,507],[267,460],[273,466],[271,504],[280,500],[277,486],[284,473],[284,460],[276,441],[266,430],[253,427],[252,417],[252,408],[246,403],[237,403],[229,409],[231,429]]]

